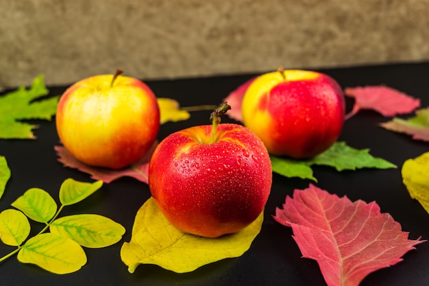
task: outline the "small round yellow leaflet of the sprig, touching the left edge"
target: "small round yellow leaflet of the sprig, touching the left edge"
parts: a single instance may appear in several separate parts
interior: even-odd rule
[[[8,246],[21,246],[27,239],[30,226],[27,217],[12,208],[0,213],[0,238]]]

